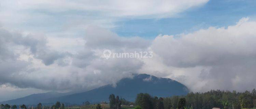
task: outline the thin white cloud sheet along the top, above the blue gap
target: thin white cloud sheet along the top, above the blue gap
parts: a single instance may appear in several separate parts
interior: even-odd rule
[[[89,25],[115,27],[123,19],[169,18],[209,0],[1,0],[0,22],[28,32],[81,31]],[[36,27],[36,28],[34,28]],[[77,35],[77,33],[72,33]]]

